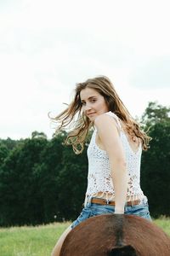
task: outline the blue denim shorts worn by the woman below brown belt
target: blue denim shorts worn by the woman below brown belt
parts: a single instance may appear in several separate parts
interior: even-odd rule
[[[79,217],[71,224],[71,228],[73,229],[77,226],[77,224],[80,224],[87,218],[114,212],[115,207],[111,205],[94,204],[91,201],[88,201],[87,205],[82,209]],[[146,218],[151,221],[147,198],[144,197],[144,199],[140,201],[139,205],[132,207],[125,206],[124,214],[137,215],[141,218]]]

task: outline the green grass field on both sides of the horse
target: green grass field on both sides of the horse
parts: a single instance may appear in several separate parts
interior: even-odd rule
[[[170,218],[159,218],[154,222],[170,236]],[[55,242],[69,224],[0,229],[0,256],[50,256]]]

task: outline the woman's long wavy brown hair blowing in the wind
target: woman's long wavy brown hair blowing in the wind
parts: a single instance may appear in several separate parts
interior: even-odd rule
[[[123,129],[127,131],[129,136],[132,137],[133,140],[134,137],[140,138],[144,150],[149,148],[151,137],[147,136],[147,134],[140,129],[137,121],[133,119],[122,100],[117,95],[111,80],[105,76],[99,76],[94,79],[88,79],[83,83],[78,83],[76,85],[74,99],[68,107],[54,118],[50,117],[48,114],[48,117],[57,123],[55,133],[62,130],[69,131],[65,144],[72,145],[74,152],[81,154],[88,131],[93,126],[90,119],[82,112],[80,92],[85,88],[97,90],[101,96],[104,96],[109,111],[115,113],[118,118],[121,119]]]

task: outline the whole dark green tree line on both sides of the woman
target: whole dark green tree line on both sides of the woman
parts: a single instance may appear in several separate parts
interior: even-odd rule
[[[141,186],[152,216],[170,216],[170,109],[150,102],[142,123],[152,137],[143,153]],[[65,132],[48,140],[43,132],[29,139],[0,140],[0,225],[42,224],[75,219],[87,187],[85,150],[63,145]]]

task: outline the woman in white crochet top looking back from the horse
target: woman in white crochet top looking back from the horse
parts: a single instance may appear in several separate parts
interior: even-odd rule
[[[74,124],[66,143],[82,153],[89,129],[88,189],[80,216],[59,238],[53,256],[59,255],[65,236],[87,218],[105,213],[135,214],[150,218],[147,197],[140,188],[142,149],[148,137],[125,108],[107,77],[77,84],[73,102],[55,118],[59,129]]]

